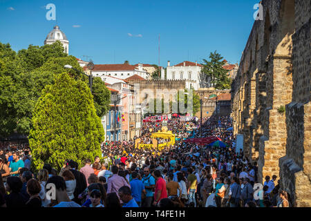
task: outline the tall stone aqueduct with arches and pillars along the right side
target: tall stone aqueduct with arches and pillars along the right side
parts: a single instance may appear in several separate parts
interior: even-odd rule
[[[311,206],[311,1],[261,3],[263,21],[254,22],[232,83],[234,134],[244,135],[259,182],[278,175],[295,206]]]

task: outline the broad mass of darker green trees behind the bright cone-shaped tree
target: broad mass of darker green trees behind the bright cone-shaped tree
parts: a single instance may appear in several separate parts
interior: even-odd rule
[[[55,83],[56,73],[66,72],[88,83],[88,77],[64,68],[66,64],[83,71],[75,57],[64,53],[59,41],[41,47],[30,45],[18,53],[10,44],[0,43],[0,136],[14,132],[28,135],[41,90]],[[102,117],[109,108],[110,92],[98,79],[93,80],[93,92],[97,114]]]

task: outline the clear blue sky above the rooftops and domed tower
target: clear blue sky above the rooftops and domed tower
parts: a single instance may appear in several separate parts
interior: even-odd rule
[[[259,0],[0,0],[0,42],[13,50],[42,46],[57,23],[69,54],[95,64],[158,64],[208,59],[217,50],[239,62]],[[46,19],[54,3],[57,21]]]

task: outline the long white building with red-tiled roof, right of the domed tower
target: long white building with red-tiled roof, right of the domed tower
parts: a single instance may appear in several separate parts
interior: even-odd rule
[[[150,78],[149,73],[144,70],[142,64],[138,64],[138,66],[130,64],[95,64],[92,75],[94,77],[111,76],[120,79],[126,79],[133,75],[138,75],[144,79]]]

